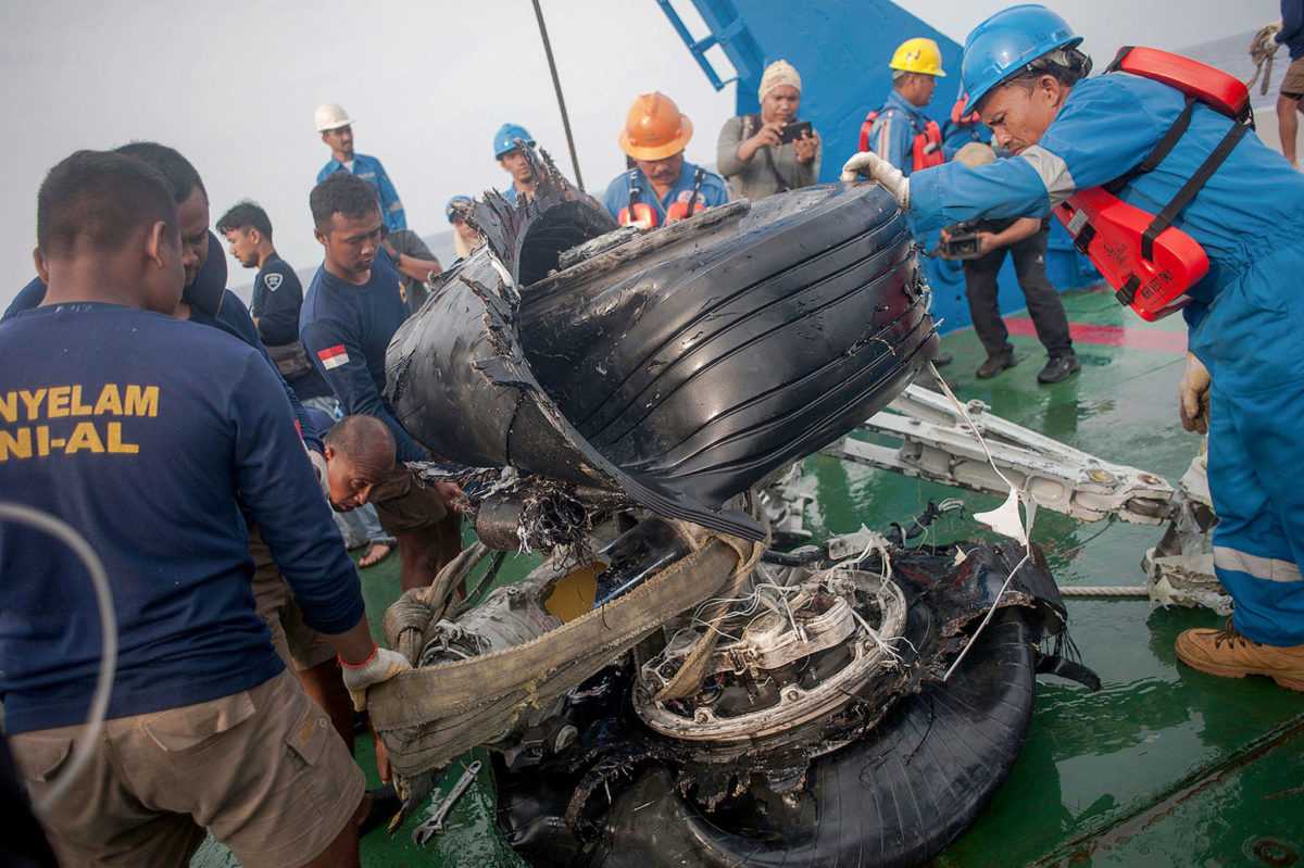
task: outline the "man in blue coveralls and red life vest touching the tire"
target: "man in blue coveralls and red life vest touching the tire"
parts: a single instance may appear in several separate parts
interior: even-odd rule
[[[1239,87],[1235,104],[1219,107],[1211,85],[1226,86],[1226,77],[1184,59],[1171,63],[1171,55],[1164,69],[1120,55],[1116,63],[1131,72],[1086,78],[1090,60],[1080,43],[1045,7],[996,13],[965,42],[964,89],[995,142],[1015,156],[978,168],[947,163],[906,179],[882,158],[857,154],[844,179],[862,172],[879,181],[909,210],[917,235],[979,218],[1046,216],[1064,203],[1089,215],[1090,237],[1082,224],[1071,228],[1102,272],[1110,262],[1094,255],[1094,236],[1114,232],[1129,245],[1123,253],[1138,270],[1132,280],[1144,272],[1154,282],[1116,284],[1120,301],[1138,313],[1159,280],[1171,282],[1142,271],[1155,266],[1163,233],[1176,229],[1198,245],[1208,274],[1191,270],[1185,283],[1167,288],[1189,298],[1180,416],[1187,430],[1209,431],[1214,568],[1235,614],[1224,629],[1183,632],[1178,657],[1213,675],[1267,675],[1304,691],[1304,489],[1290,470],[1304,455],[1304,176],[1249,130],[1239,82],[1226,87]],[[1082,206],[1102,194],[1145,218],[1127,229],[1131,236]]]

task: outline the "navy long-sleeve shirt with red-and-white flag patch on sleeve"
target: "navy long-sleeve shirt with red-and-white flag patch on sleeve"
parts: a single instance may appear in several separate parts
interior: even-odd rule
[[[322,266],[308,287],[299,339],[346,416],[374,416],[394,433],[400,461],[422,461],[429,452],[394,418],[385,400],[385,351],[406,318],[399,275],[386,257],[376,257],[370,280],[363,285],[340,280]]]

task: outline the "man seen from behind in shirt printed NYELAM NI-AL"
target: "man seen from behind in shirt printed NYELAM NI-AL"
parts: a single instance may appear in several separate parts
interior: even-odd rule
[[[117,618],[106,722],[47,832],[64,864],[185,865],[207,828],[249,868],[357,865],[363,775],[254,610],[245,516],[355,702],[407,663],[370,637],[274,371],[172,315],[179,223],[145,162],[73,154],[38,195],[44,302],[0,326],[0,489],[89,541]],[[86,742],[100,623],[34,529],[0,528],[0,573],[5,730],[39,799]]]

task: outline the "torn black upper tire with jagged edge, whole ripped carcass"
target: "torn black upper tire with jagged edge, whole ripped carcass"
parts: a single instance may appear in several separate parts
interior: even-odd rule
[[[472,219],[489,242],[387,358],[399,421],[456,461],[760,538],[721,504],[848,433],[936,353],[905,220],[878,186],[732,203],[569,267],[613,224],[559,179]]]

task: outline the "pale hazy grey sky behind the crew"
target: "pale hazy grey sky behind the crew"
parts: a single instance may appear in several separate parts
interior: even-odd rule
[[[775,3],[802,8],[801,0]],[[1009,4],[901,5],[962,40]],[[1181,48],[1278,17],[1274,0],[1048,5],[1069,18],[1102,63],[1120,44]],[[689,158],[715,160],[733,87],[711,89],[655,0],[542,0],[542,7],[591,192],[622,171],[615,136],[642,91],[674,96],[696,124]],[[677,0],[677,8],[692,20],[689,0]],[[0,305],[33,275],[40,179],[80,147],[130,139],[172,145],[203,176],[213,220],[236,199],[259,201],[278,249],[295,267],[319,261],[308,192],[329,159],[312,126],[321,102],[349,111],[357,150],[383,160],[408,225],[421,233],[446,228],[443,203],[454,193],[505,185],[490,146],[503,121],[528,126],[570,173],[529,0],[9,1],[0,7],[0,44],[9,129]],[[867,72],[885,60],[867,59]],[[249,283],[252,272],[231,259],[228,266],[231,285]]]

